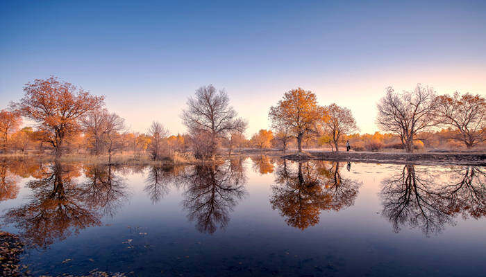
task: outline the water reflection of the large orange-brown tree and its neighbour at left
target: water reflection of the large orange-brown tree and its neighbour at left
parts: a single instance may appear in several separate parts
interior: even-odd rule
[[[39,179],[26,184],[32,190],[28,202],[10,209],[4,220],[15,224],[31,247],[40,248],[99,226],[103,213],[113,215],[119,199],[126,197],[126,186],[108,166],[86,171],[89,181],[78,184],[80,166],[51,164]]]

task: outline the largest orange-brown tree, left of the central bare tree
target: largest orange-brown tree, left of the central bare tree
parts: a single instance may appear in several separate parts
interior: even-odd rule
[[[13,103],[22,116],[38,123],[38,128],[49,134],[49,143],[57,157],[62,153],[62,143],[69,134],[80,131],[81,118],[103,106],[103,96],[92,96],[68,82],[51,76],[36,79],[24,87],[24,98]]]

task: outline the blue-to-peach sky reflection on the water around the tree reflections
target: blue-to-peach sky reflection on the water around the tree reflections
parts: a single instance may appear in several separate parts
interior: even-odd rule
[[[297,164],[287,163],[290,171],[287,173],[299,180]],[[324,162],[320,166],[312,168],[313,172],[320,172],[319,180],[333,179],[335,163]],[[155,202],[146,182],[153,169],[135,173],[129,169],[115,170],[115,175],[125,178],[128,199],[116,213],[101,217],[101,226],[55,240],[46,250],[28,250],[25,261],[38,270],[37,274],[82,274],[98,268],[141,275],[164,271],[167,276],[478,276],[486,269],[483,263],[486,223],[482,218],[468,216],[464,220],[462,214],[454,215],[444,224],[442,233],[428,236],[421,226],[411,229],[407,222],[401,224],[399,233],[394,232],[392,222],[382,215],[380,197],[383,198],[383,180],[399,175],[403,165],[353,163],[348,172],[346,163],[340,163],[340,177],[359,183],[357,195],[350,205],[340,206],[339,211],[337,208],[317,211],[318,222],[301,230],[287,224],[294,210],[279,210],[288,208],[286,203],[277,203],[272,209],[271,202],[277,199],[275,189],[285,186],[275,183],[282,173],[282,162],[246,159],[242,178],[246,183],[225,179],[225,184],[243,184],[242,195],[233,197],[235,202],[228,204],[225,199],[235,196],[226,191],[232,186],[216,191],[222,200],[215,204],[226,209],[228,221],[224,229],[221,222],[216,222],[216,229],[210,234],[197,226],[201,217],[189,216],[194,205],[185,203],[191,197],[187,193],[190,185],[185,182],[203,182],[201,176],[205,174],[208,178],[212,174],[226,178],[228,168],[233,170],[231,174],[238,174],[237,166],[231,168],[226,164],[219,168],[219,173],[200,169],[189,177],[190,174],[171,177],[164,170],[155,172],[162,176],[162,185],[164,180],[172,182]],[[428,181],[442,182],[453,176],[451,170],[462,168],[414,166],[414,172],[420,176],[433,175]],[[482,178],[484,184],[485,177]],[[78,183],[84,180],[74,179]],[[22,187],[16,199],[0,202],[2,213],[29,201],[31,189],[24,187],[27,180],[33,178],[19,181]],[[316,188],[310,191],[315,193]],[[309,201],[317,201],[313,199]],[[3,226],[3,230],[18,231],[12,226]],[[67,258],[72,260],[62,263]]]

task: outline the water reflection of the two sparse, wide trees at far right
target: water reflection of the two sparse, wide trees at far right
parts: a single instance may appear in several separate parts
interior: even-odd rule
[[[396,233],[402,226],[420,228],[425,235],[440,233],[446,224],[455,224],[455,215],[486,214],[485,179],[484,170],[473,166],[433,175],[405,165],[399,174],[382,181],[382,214]]]

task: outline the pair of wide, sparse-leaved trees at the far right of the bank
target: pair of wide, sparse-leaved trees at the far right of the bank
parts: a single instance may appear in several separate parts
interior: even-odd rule
[[[431,87],[417,84],[413,91],[396,93],[388,87],[378,102],[376,123],[380,129],[396,134],[407,152],[421,132],[443,126],[455,129],[453,139],[472,148],[486,139],[486,100],[483,96],[454,93],[437,96]]]

